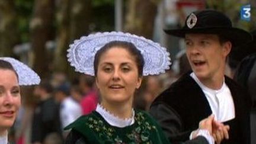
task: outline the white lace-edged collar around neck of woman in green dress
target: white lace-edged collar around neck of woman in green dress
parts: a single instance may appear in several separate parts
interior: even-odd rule
[[[105,110],[105,108],[100,104],[97,105],[96,111],[100,113],[100,115],[105,119],[105,121],[107,121],[107,123],[111,126],[126,127],[135,123],[134,110],[132,110],[132,117],[129,119],[120,119],[119,117],[114,116],[114,114],[111,114],[110,111]]]

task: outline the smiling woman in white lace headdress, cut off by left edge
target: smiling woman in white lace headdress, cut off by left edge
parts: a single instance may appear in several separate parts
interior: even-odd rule
[[[36,72],[11,57],[0,57],[0,143],[8,143],[8,129],[21,105],[20,86],[40,83]]]

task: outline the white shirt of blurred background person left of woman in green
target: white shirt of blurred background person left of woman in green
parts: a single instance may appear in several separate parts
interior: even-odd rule
[[[82,116],[81,105],[71,97],[65,98],[60,105],[62,127],[68,126],[80,116]]]

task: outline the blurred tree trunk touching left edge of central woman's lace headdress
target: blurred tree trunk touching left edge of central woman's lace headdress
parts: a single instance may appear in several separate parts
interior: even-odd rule
[[[91,18],[91,0],[62,0],[57,14],[59,31],[55,53],[55,69],[65,72],[70,79],[75,75],[74,68],[69,66],[67,49],[73,40],[88,34]]]

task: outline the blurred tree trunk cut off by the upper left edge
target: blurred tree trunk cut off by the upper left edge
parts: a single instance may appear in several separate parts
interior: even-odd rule
[[[19,41],[17,14],[13,0],[0,0],[0,56],[13,56]]]

